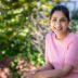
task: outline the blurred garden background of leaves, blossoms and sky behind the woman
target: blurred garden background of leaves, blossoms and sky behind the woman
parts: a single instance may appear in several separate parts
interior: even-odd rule
[[[78,32],[77,0],[0,0],[1,78],[22,78],[23,69],[44,64],[49,14],[56,4],[69,9],[70,28]]]

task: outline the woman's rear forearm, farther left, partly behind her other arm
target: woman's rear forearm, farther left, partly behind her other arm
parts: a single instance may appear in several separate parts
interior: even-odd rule
[[[38,75],[39,73],[41,75],[42,72],[47,72],[51,69],[54,69],[54,67],[52,66],[52,64],[47,63],[44,66],[41,66],[40,68],[32,69],[32,70],[29,70],[28,73],[25,73],[23,76],[28,78],[35,78],[35,75]]]

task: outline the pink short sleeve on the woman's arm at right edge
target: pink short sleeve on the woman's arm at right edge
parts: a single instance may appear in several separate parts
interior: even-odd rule
[[[78,40],[74,40],[68,44],[67,52],[65,54],[65,64],[77,66],[78,64]]]

